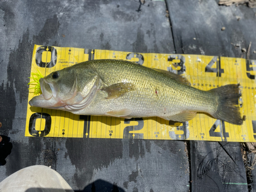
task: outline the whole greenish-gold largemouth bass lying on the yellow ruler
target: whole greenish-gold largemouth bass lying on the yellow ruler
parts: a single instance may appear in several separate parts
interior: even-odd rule
[[[29,104],[78,115],[160,117],[185,122],[197,113],[242,125],[239,84],[209,91],[181,75],[126,60],[98,59],[54,71],[39,80],[41,95]]]

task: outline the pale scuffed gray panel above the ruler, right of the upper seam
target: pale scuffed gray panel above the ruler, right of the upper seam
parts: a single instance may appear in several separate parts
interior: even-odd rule
[[[177,53],[245,58],[242,48],[252,41],[250,59],[256,58],[256,8],[219,6],[213,0],[166,2]]]

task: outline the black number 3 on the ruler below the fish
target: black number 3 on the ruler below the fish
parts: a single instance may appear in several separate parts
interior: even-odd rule
[[[175,121],[169,121],[169,125],[174,125]],[[185,140],[189,138],[188,122],[182,122],[182,126],[176,126],[177,131],[183,131],[183,134],[175,134],[175,131],[169,131],[169,136],[174,140]]]

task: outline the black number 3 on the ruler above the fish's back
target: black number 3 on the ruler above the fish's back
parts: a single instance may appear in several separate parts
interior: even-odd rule
[[[179,62],[173,62],[174,60],[178,60]],[[185,57],[183,55],[169,55],[167,61],[173,62],[173,67],[167,67],[167,71],[172,73],[176,73],[178,75],[185,73]],[[176,68],[180,67],[179,70],[175,70]],[[177,71],[177,72],[176,72]]]

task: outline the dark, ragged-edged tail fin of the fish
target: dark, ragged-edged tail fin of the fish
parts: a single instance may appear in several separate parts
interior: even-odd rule
[[[241,97],[239,90],[240,84],[227,84],[209,92],[216,93],[219,96],[219,105],[216,113],[211,114],[216,119],[221,119],[232,124],[242,125],[245,116],[241,118],[238,99]]]

